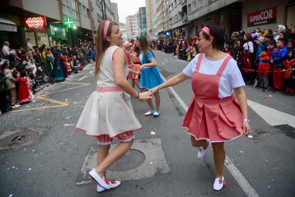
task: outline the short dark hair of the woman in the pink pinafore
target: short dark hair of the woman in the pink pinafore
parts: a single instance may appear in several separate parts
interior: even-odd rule
[[[211,36],[214,37],[214,39],[212,42],[212,47],[213,49],[218,49],[218,50],[222,50],[224,47],[224,32],[223,30],[217,26],[217,25],[212,25],[212,24],[205,24],[205,27],[208,27],[210,29],[210,34]],[[206,40],[209,40],[210,36],[205,33],[204,31],[202,31],[202,34],[204,35]]]

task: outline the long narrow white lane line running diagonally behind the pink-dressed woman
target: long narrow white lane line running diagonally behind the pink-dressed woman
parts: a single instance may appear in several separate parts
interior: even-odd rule
[[[163,81],[167,81],[164,76],[160,73]],[[185,102],[180,98],[180,96],[176,93],[176,91],[172,88],[169,87],[170,91],[174,94],[175,98],[178,100],[178,102],[181,104],[183,109],[187,112],[189,109],[188,106],[185,104]],[[237,167],[232,163],[232,161],[225,155],[225,166],[227,169],[230,171],[232,176],[235,178],[237,183],[240,185],[242,190],[246,193],[247,196],[250,197],[259,197],[258,193],[252,188],[250,183],[245,179],[245,177],[240,173],[240,171],[237,169]]]

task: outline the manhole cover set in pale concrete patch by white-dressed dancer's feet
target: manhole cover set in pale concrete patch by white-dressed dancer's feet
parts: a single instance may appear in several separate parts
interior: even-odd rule
[[[137,168],[145,161],[145,155],[139,150],[129,149],[119,160],[113,163],[108,170],[122,171]]]

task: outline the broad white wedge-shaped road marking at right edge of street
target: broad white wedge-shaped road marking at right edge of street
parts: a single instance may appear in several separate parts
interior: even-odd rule
[[[250,100],[247,100],[247,101],[248,101],[248,105],[259,116],[261,116],[268,124],[272,126],[289,124],[291,127],[295,128],[295,116],[261,105],[254,101],[250,101]]]

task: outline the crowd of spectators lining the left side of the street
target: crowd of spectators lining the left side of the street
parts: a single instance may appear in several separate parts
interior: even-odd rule
[[[25,48],[10,49],[5,41],[0,49],[0,114],[30,102],[43,83],[70,80],[69,75],[95,62],[93,45],[43,44],[38,48],[32,46],[30,38],[24,45]]]

